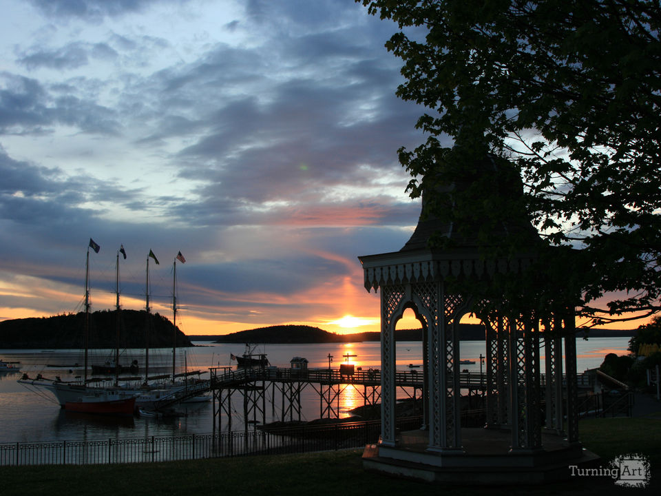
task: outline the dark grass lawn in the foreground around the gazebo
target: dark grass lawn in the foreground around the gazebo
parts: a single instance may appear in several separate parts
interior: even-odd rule
[[[468,487],[441,489],[366,473],[359,450],[160,464],[4,467],[0,482],[3,496],[661,494],[661,420],[590,419],[579,428],[585,448],[605,459],[604,465],[627,453],[647,455],[651,486],[616,488],[607,479],[583,477],[541,487],[478,488],[467,481]]]

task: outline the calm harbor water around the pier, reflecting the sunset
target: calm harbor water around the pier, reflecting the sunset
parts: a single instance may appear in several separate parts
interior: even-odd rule
[[[629,338],[590,338],[577,340],[578,371],[598,367],[607,353],[619,355],[627,353]],[[195,349],[188,350],[185,355],[178,351],[178,371],[183,371],[184,364],[189,370],[208,371],[211,366],[235,366],[230,360],[230,353],[242,355],[242,344],[211,344],[196,342]],[[330,366],[338,369],[339,364],[346,363],[343,355],[350,357],[350,363],[366,370],[380,366],[379,342],[361,343],[328,343],[328,344],[267,344],[258,347],[256,353],[266,353],[271,365],[288,367],[295,356],[308,359],[308,368],[328,368],[328,355],[332,355]],[[134,358],[142,364],[141,351],[129,350],[121,363],[128,363]],[[171,372],[172,351],[167,349],[151,350],[149,354],[151,373]],[[461,369],[479,373],[480,355],[485,354],[485,343],[478,341],[461,342],[461,359],[474,360],[474,364],[462,365]],[[102,353],[103,355],[103,353]],[[105,356],[110,355],[110,351]],[[541,353],[543,371],[543,351]],[[79,375],[81,370],[75,364],[83,363],[83,353],[79,350],[0,350],[0,357],[6,361],[19,360],[21,371],[31,377],[43,373],[54,378],[59,375],[62,380],[70,380]],[[105,358],[103,359],[105,360]],[[103,362],[96,359],[96,362]],[[45,364],[65,365],[64,367],[45,367]],[[421,342],[397,343],[397,368],[409,370],[408,365],[422,364]],[[208,378],[208,372],[202,378]],[[37,394],[22,384],[17,383],[20,375],[0,373],[0,442],[45,442],[54,440],[98,440],[123,439],[127,437],[164,436],[191,433],[210,433],[213,428],[213,409],[211,402],[180,407],[182,416],[167,420],[147,418],[120,419],[115,417],[99,417],[94,415],[65,412],[56,404],[54,397],[48,391]],[[236,395],[240,397],[240,395]],[[268,400],[271,390],[266,393],[266,421],[280,420],[282,404],[280,395],[275,401],[275,411],[271,409]],[[302,420],[319,418],[319,395],[312,386],[306,386],[302,393]],[[350,415],[350,410],[363,404],[359,391],[349,386],[341,396],[339,411],[341,417]],[[234,406],[233,426],[242,428],[242,406]],[[273,415],[275,413],[275,415]]]

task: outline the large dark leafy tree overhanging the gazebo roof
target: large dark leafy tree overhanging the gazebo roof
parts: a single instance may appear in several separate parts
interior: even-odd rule
[[[578,312],[599,324],[659,311],[660,3],[356,1],[399,24],[386,43],[403,59],[397,94],[429,109],[417,123],[426,143],[399,150],[410,195],[452,183],[486,154],[509,161],[524,185],[516,208],[556,248],[540,267]],[[489,211],[497,193],[486,186],[479,198],[455,194],[462,212],[434,213]],[[605,294],[615,296],[595,307]]]

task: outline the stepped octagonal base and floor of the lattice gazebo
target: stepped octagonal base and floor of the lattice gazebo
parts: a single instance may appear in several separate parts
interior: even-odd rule
[[[368,471],[433,483],[525,485],[569,479],[571,466],[592,468],[600,459],[552,434],[543,434],[543,448],[535,451],[510,450],[509,431],[463,428],[461,436],[463,449],[444,453],[428,450],[428,432],[404,432],[395,447],[366,446],[363,466]]]

